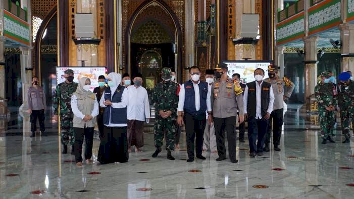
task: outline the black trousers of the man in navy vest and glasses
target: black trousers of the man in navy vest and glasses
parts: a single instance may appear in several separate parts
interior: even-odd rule
[[[194,142],[196,156],[203,153],[204,129],[207,123],[205,113],[192,115],[184,113],[188,158],[194,159]]]

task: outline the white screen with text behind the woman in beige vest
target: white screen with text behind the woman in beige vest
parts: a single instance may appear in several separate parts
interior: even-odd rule
[[[105,67],[57,67],[57,85],[65,82],[64,72],[68,69],[74,71],[74,82],[79,83],[80,78],[86,77],[91,80],[90,91],[98,87],[98,77],[106,77]]]

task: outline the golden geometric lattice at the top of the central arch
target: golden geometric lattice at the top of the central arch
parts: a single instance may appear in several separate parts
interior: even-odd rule
[[[141,44],[174,43],[174,39],[155,21],[148,21],[138,28],[135,33],[132,33],[131,41]]]

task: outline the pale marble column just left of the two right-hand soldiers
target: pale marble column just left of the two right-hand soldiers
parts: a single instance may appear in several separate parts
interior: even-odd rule
[[[318,37],[304,37],[305,43],[305,98],[315,93],[317,85],[317,40]]]

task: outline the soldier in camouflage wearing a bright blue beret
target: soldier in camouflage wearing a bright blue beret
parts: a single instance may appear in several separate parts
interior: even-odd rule
[[[342,133],[345,137],[343,143],[349,143],[350,121],[354,124],[354,81],[350,80],[350,74],[345,72],[339,75],[338,105],[340,108],[340,120]]]

